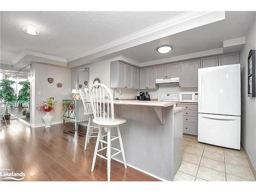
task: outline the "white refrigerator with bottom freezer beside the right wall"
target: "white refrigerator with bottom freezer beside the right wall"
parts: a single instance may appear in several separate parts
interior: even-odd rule
[[[198,141],[240,149],[240,64],[198,70]]]

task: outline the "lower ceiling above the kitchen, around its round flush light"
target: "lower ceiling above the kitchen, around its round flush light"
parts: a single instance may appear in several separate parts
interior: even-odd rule
[[[136,47],[119,51],[114,55],[122,55],[142,63],[223,48],[224,40],[246,36],[254,14],[255,12],[226,12],[226,18],[220,22],[147,42]],[[167,54],[160,54],[156,51],[156,48],[161,45],[170,45],[173,47],[173,50]]]

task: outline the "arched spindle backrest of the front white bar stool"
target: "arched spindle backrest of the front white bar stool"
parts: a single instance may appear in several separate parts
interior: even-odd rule
[[[95,83],[89,95],[94,119],[99,122],[114,122],[114,100],[110,89],[102,83]]]

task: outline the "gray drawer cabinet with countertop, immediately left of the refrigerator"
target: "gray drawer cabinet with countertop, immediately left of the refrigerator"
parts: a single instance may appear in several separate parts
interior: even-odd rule
[[[197,135],[197,104],[178,103],[177,106],[185,108],[183,110],[183,133]]]

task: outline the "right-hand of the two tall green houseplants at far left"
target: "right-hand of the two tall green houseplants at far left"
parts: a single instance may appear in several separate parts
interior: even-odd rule
[[[23,115],[26,115],[27,118],[30,117],[29,112],[29,100],[30,100],[30,82],[20,81],[19,84],[22,86],[22,89],[18,92],[17,101],[24,104]]]

